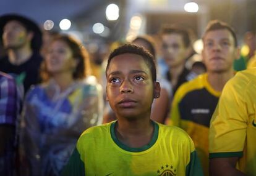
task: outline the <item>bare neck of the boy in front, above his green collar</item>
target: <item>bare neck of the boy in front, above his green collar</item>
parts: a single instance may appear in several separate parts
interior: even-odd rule
[[[124,145],[140,148],[151,141],[154,127],[150,118],[133,120],[118,118],[115,132],[118,140]]]

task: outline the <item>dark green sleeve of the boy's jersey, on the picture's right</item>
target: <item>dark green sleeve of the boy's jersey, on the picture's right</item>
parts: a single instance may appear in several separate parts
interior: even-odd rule
[[[186,167],[186,176],[200,176],[203,175],[200,159],[197,156],[197,152],[190,153],[190,162]]]

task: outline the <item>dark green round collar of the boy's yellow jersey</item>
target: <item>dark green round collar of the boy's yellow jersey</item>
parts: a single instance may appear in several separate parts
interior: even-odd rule
[[[116,133],[114,131],[116,122],[117,121],[115,121],[111,124],[110,134],[111,134],[111,138],[114,140],[114,143],[116,143],[116,145],[119,146],[120,148],[122,148],[123,150],[130,151],[130,152],[141,152],[141,151],[148,150],[151,146],[153,146],[156,143],[156,140],[158,138],[158,130],[159,130],[159,126],[156,122],[151,121],[153,124],[153,127],[154,127],[154,131],[153,131],[153,137],[151,138],[150,142],[147,145],[144,145],[139,148],[131,148],[127,145],[124,145],[124,143],[122,143],[118,140],[118,138],[116,137]]]

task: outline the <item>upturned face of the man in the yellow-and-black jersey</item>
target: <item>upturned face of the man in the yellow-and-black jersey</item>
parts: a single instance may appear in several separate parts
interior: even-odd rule
[[[239,57],[232,34],[228,30],[209,31],[203,38],[203,62],[207,71],[221,73],[233,70]]]

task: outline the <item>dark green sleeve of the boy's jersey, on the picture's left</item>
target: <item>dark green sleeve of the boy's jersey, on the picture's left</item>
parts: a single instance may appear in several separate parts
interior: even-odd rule
[[[77,148],[73,151],[69,162],[61,172],[61,176],[85,176],[85,164],[80,159]]]

